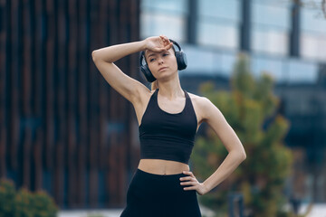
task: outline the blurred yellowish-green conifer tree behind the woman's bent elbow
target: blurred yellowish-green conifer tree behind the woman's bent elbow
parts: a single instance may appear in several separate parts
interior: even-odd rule
[[[240,54],[231,87],[231,92],[217,91],[208,82],[201,85],[200,91],[235,129],[247,158],[225,182],[201,196],[200,202],[218,212],[226,211],[227,193],[233,190],[244,193],[249,216],[286,216],[287,213],[281,212],[286,203],[282,190],[290,173],[292,152],[283,146],[289,123],[275,114],[279,100],[273,95],[273,79],[264,73],[254,80],[245,54]],[[271,120],[264,129],[267,118]],[[191,157],[193,170],[199,179],[205,180],[216,171],[225,156],[225,146],[208,127],[206,137],[197,138]]]

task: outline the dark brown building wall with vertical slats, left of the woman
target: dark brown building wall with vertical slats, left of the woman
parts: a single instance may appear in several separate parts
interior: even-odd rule
[[[0,0],[0,176],[61,208],[123,206],[134,111],[91,52],[137,40],[139,0]],[[137,54],[117,65],[138,77]]]

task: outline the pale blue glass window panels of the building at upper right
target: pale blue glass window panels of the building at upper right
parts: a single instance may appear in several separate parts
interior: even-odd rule
[[[195,25],[187,24],[188,5],[197,4]],[[182,43],[188,67],[180,75],[205,74],[229,78],[241,42],[243,20],[241,0],[143,0],[141,2],[141,37],[166,34]],[[264,71],[280,83],[314,83],[318,64],[326,61],[326,19],[316,10],[301,8],[300,55],[290,56],[292,1],[250,1],[250,52],[254,76]],[[196,43],[187,44],[187,28],[196,28]],[[294,44],[295,46],[295,44]]]

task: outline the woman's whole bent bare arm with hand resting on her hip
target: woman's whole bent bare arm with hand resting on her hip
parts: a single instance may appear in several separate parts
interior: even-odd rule
[[[209,127],[212,127],[216,132],[216,135],[221,139],[228,155],[225,157],[225,160],[221,165],[218,166],[216,172],[213,175],[210,175],[205,182],[199,184],[196,182],[195,175],[192,172],[184,172],[189,175],[189,181],[192,182],[193,186],[185,188],[185,190],[197,190],[199,194],[205,194],[210,192],[218,184],[222,183],[227,176],[231,175],[235,168],[240,165],[246,158],[245,148],[242,145],[240,139],[236,136],[235,131],[227,123],[222,112],[216,108],[216,106],[206,98],[201,98],[199,107],[203,116],[203,121],[205,121]],[[185,179],[186,181],[186,179]],[[190,184],[190,183],[188,183]]]

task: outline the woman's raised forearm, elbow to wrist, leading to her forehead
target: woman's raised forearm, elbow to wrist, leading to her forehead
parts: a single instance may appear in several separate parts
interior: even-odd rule
[[[109,47],[101,48],[92,52],[93,59],[114,62],[120,60],[134,52],[140,52],[146,49],[145,41],[121,43]]]

